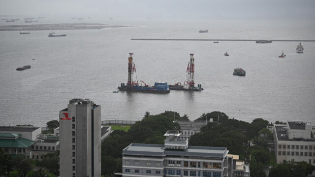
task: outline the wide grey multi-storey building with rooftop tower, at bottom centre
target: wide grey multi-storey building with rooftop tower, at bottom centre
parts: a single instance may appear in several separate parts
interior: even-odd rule
[[[164,136],[164,145],[128,145],[123,150],[123,177],[233,177],[233,156],[226,147],[189,146],[178,131]],[[249,168],[243,172],[242,177],[249,177]]]

